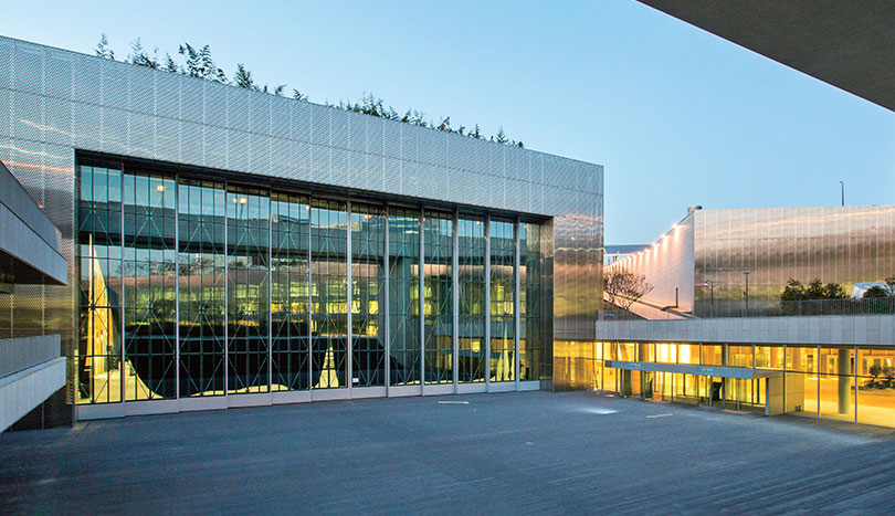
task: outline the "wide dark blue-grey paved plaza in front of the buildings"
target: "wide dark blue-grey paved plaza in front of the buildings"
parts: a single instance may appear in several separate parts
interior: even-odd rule
[[[0,512],[891,510],[891,429],[523,392],[0,435]]]

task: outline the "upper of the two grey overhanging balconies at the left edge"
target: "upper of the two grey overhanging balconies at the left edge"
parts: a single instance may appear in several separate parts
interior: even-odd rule
[[[0,284],[67,282],[62,235],[0,162]]]

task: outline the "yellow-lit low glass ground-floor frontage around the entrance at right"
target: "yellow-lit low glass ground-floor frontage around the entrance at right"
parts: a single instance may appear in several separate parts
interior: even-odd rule
[[[655,401],[765,412],[764,378],[615,369],[607,360],[725,366],[782,373],[783,412],[895,427],[895,349],[864,346],[592,343],[593,387]]]

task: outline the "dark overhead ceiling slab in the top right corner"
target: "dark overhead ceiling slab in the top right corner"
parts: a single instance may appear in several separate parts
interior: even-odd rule
[[[639,0],[895,110],[892,0]]]

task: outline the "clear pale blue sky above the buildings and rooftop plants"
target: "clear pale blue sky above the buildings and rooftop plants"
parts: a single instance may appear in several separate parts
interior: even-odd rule
[[[632,0],[8,2],[0,34],[209,43],[312,102],[372,92],[606,166],[606,243],[705,208],[895,202],[895,114]]]

